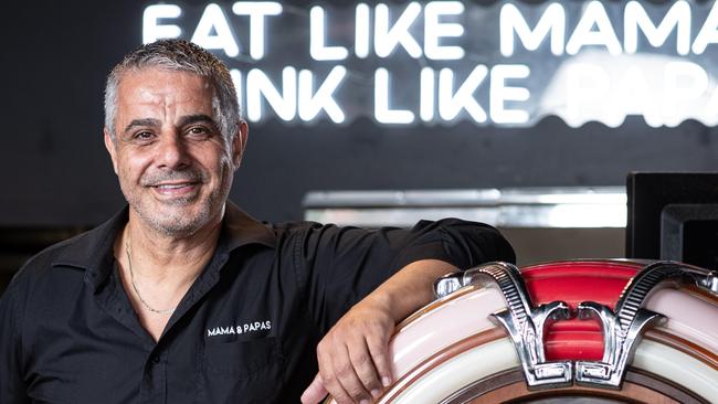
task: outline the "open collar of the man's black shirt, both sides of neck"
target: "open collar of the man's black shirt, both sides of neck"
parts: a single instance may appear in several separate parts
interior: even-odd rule
[[[125,227],[128,216],[129,206],[126,205],[107,222],[64,242],[66,245],[52,266],[85,269],[85,280],[97,288],[112,272],[115,238]],[[267,224],[255,220],[228,201],[219,245],[232,252],[250,244],[275,247],[276,236]]]

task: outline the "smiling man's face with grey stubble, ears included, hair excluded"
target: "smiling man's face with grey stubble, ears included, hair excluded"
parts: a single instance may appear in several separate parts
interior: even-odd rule
[[[105,129],[119,184],[135,215],[182,237],[215,223],[242,158],[246,124],[226,142],[205,78],[161,68],[127,72],[117,92],[116,140]]]

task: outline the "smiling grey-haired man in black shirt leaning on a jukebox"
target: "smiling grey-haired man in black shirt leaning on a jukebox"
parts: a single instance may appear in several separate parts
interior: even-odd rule
[[[9,286],[2,403],[368,403],[433,279],[514,259],[494,228],[457,220],[369,232],[243,213],[228,194],[247,125],[226,67],[188,42],[127,55],[105,113],[129,206]]]

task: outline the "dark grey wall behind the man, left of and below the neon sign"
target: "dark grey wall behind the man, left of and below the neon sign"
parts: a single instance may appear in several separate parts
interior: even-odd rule
[[[3,4],[0,226],[92,225],[123,204],[102,141],[103,87],[141,43],[148,3]],[[654,129],[641,118],[619,128],[570,128],[552,117],[529,128],[266,120],[251,126],[232,199],[279,221],[300,217],[309,190],[622,185],[632,170],[716,170],[716,129],[696,121]]]

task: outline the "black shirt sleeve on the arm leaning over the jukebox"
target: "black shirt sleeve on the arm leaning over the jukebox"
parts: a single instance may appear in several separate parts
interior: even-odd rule
[[[496,228],[457,219],[421,221],[409,230],[313,224],[297,243],[300,284],[323,334],[352,305],[413,262],[440,259],[466,269],[516,259]]]

